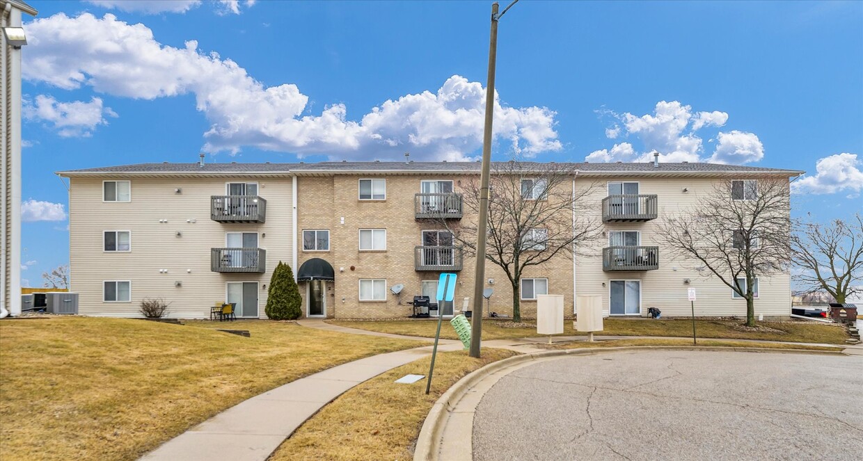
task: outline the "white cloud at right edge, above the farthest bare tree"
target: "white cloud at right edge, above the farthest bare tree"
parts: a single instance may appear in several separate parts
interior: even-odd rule
[[[791,189],[806,194],[835,194],[863,190],[863,161],[855,153],[837,153],[819,159],[815,176],[804,176],[791,183]],[[854,194],[849,194],[851,198]]]

